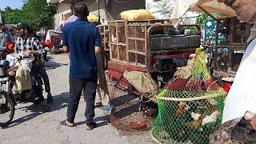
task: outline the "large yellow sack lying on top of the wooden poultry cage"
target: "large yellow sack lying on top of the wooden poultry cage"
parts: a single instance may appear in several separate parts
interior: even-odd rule
[[[123,11],[120,16],[126,21],[155,19],[148,10],[126,10]]]

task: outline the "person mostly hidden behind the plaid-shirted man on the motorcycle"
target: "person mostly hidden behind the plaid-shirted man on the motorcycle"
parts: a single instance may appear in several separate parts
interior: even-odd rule
[[[30,30],[30,37],[34,37],[34,30]],[[36,38],[36,37],[34,37],[34,38]],[[38,39],[38,41],[39,41],[39,39]],[[44,55],[45,52],[46,51],[44,50],[42,55]],[[53,98],[52,94],[50,93],[50,81],[49,81],[48,74],[46,73],[46,68],[42,61],[43,61],[42,58],[39,56],[38,57],[38,65],[37,65],[38,74],[41,75],[43,83],[45,85],[45,90],[47,93],[47,102],[51,103],[51,102],[54,102],[54,98]]]

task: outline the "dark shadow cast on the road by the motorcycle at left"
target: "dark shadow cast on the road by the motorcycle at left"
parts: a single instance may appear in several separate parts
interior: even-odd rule
[[[67,102],[68,102],[68,98],[69,98],[69,93],[62,93],[59,95],[54,96],[54,102],[48,104],[48,106],[50,106],[50,112],[54,112],[56,110],[61,110],[63,108],[65,108],[67,106]],[[20,104],[22,105],[22,104]],[[9,126],[3,127],[2,129],[7,129],[13,126],[18,126],[19,124],[22,124],[23,122],[27,122],[30,121],[31,119],[37,117],[42,113],[42,105],[30,105],[30,106],[24,106],[24,107],[20,107],[18,108],[18,110],[25,110],[26,112],[30,112],[31,114],[28,114],[22,118],[18,118],[16,120],[14,120]],[[16,113],[18,112],[17,110],[15,111]]]

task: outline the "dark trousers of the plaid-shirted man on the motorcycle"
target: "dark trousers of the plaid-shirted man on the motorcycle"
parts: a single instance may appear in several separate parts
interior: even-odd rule
[[[30,71],[32,89],[34,90],[35,94],[37,94],[39,99],[44,99],[42,96],[42,86],[38,85],[37,74],[38,74],[37,66],[32,66]]]

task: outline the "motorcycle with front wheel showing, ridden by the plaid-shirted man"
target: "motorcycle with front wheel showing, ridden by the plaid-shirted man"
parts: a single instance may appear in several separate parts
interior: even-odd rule
[[[8,54],[6,60],[0,60],[0,126],[8,126],[14,118],[17,102],[36,103],[37,94],[34,90],[17,91],[16,71],[17,63],[32,66],[34,57],[23,57],[21,54]],[[42,78],[37,75],[38,86],[42,87]],[[49,108],[49,107],[48,107]],[[49,110],[49,109],[48,109]]]

